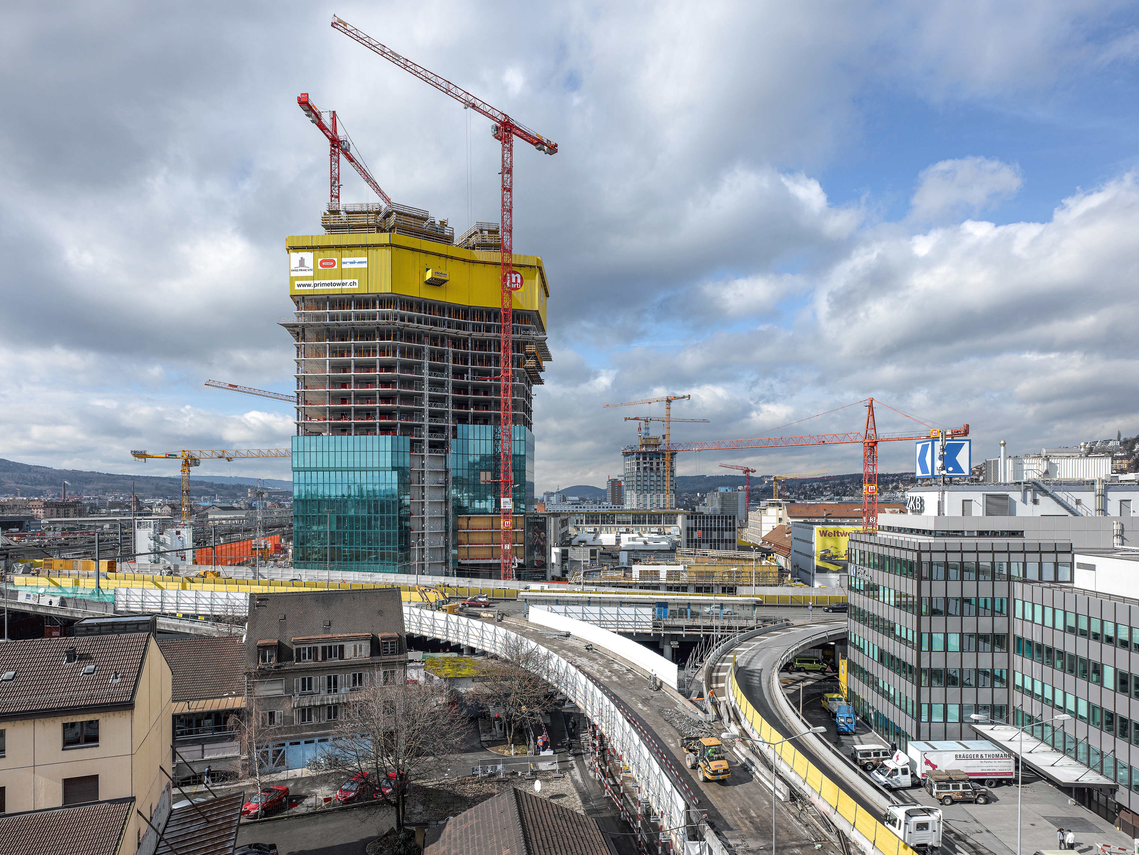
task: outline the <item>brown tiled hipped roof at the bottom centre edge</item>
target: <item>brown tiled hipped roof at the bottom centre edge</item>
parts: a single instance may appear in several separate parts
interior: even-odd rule
[[[511,787],[446,823],[424,855],[609,855],[597,822]]]

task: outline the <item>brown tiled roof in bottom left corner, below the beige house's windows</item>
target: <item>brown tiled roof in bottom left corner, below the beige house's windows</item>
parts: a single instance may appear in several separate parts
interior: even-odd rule
[[[133,812],[134,799],[125,798],[0,814],[0,855],[118,855],[120,852],[134,852],[134,841],[123,839],[126,821]]]

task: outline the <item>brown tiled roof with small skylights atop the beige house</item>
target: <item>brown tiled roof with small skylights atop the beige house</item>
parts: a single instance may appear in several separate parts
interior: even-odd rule
[[[133,703],[149,640],[147,633],[131,633],[0,644],[0,674],[16,671],[14,679],[0,681],[0,717]],[[74,662],[65,661],[69,648]],[[90,665],[97,666],[95,674],[83,674]],[[115,673],[120,679],[112,683]]]

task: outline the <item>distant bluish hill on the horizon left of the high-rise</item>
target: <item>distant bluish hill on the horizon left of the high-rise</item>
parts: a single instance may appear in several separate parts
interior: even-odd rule
[[[0,458],[0,496],[15,496],[19,489],[23,496],[35,497],[58,495],[63,481],[67,481],[67,495],[103,496],[107,492],[130,495],[131,483],[134,494],[140,499],[178,498],[182,492],[182,479],[174,470],[169,475],[116,475],[108,472],[83,472],[74,469],[52,469],[51,466],[33,466],[27,463],[16,463]],[[211,480],[194,478],[190,480],[190,495],[216,496],[221,499],[247,498],[247,486],[255,484],[255,478],[229,478],[213,475]],[[264,479],[267,487],[281,487],[289,491],[290,481]]]

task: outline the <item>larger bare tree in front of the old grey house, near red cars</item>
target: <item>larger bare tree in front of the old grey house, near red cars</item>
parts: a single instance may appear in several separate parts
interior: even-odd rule
[[[402,829],[408,785],[428,777],[458,751],[459,715],[444,692],[416,683],[374,684],[343,697],[343,712],[322,765],[368,774],[395,806],[395,828]],[[385,782],[391,793],[380,789]]]

